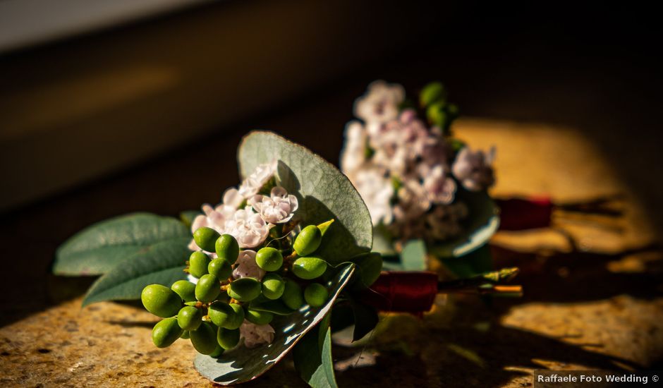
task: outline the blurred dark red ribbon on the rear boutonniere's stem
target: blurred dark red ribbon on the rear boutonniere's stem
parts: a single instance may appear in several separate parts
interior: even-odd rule
[[[554,207],[552,200],[545,196],[497,200],[497,205],[501,210],[499,229],[503,231],[547,228]]]

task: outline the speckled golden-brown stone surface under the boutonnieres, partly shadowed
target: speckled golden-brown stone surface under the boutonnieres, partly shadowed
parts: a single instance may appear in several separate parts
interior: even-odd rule
[[[525,298],[438,298],[422,320],[384,316],[366,344],[334,349],[339,384],[526,387],[536,368],[661,365],[663,255],[640,249],[654,238],[649,221],[604,157],[572,129],[465,120],[458,135],[497,145],[494,195],[564,202],[622,193],[624,217],[557,213],[556,231],[499,234],[498,263],[523,269]],[[583,251],[569,253],[566,236]],[[65,293],[58,284],[51,291]],[[155,322],[131,304],[81,309],[80,297],[15,320],[0,328],[0,386],[212,385],[193,369],[186,341],[152,346]],[[302,384],[286,360],[246,386]]]

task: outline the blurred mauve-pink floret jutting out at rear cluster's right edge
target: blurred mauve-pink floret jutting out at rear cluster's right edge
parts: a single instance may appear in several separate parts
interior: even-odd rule
[[[470,191],[480,191],[495,183],[492,170],[494,158],[494,147],[487,154],[484,154],[481,150],[472,152],[470,147],[464,147],[461,152],[458,152],[451,172],[454,173],[454,176],[464,188]]]

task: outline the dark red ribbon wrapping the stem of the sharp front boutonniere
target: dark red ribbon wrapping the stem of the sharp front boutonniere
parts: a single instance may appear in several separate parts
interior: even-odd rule
[[[362,301],[382,311],[422,313],[432,308],[436,295],[433,272],[383,271],[362,294]]]

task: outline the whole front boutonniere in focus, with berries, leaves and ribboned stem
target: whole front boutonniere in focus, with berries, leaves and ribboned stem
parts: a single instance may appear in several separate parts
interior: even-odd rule
[[[219,384],[253,380],[292,351],[311,387],[336,387],[332,330],[353,327],[362,339],[379,310],[419,314],[439,292],[520,291],[501,285],[516,269],[446,282],[383,272],[359,193],[305,147],[256,131],[238,162],[243,181],[217,205],[181,219],[135,213],[89,226],[61,245],[54,272],[102,275],[84,306],[140,299],[161,318],[154,345],[190,341],[196,370]]]

